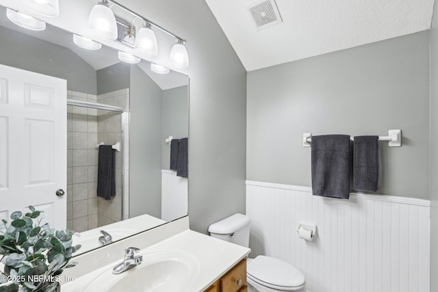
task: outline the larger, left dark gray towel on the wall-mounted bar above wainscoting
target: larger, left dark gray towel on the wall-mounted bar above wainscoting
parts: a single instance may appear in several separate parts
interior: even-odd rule
[[[350,197],[350,136],[312,136],[312,192],[314,196]]]

